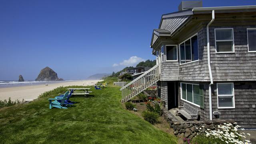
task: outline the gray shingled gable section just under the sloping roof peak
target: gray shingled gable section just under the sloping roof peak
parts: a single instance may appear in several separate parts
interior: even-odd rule
[[[176,16],[176,17],[171,17],[171,18],[163,18],[162,24],[159,27],[159,29],[168,30],[172,34],[172,32],[174,32],[188,18],[189,18],[189,16]]]

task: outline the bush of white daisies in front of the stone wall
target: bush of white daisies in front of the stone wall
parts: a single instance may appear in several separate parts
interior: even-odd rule
[[[188,144],[250,144],[249,140],[245,140],[246,134],[240,132],[244,129],[238,130],[240,128],[238,125],[224,123],[222,126],[218,125],[216,130],[205,130],[204,126],[202,128],[199,128],[197,136],[192,141],[188,141]],[[247,135],[250,136],[250,134]]]

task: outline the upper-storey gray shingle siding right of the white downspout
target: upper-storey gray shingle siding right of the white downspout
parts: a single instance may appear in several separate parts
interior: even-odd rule
[[[216,54],[214,28],[234,29],[234,53]],[[256,28],[256,26],[210,27],[211,67],[214,81],[256,80],[256,52],[248,52],[246,28]]]

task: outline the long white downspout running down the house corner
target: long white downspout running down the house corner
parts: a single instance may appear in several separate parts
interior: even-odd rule
[[[210,109],[210,120],[212,120],[212,84],[213,84],[213,79],[212,79],[212,69],[210,65],[210,38],[209,38],[209,26],[212,24],[214,21],[215,16],[214,16],[214,10],[212,10],[212,20],[207,24],[206,26],[206,31],[207,31],[207,61],[208,61],[208,69],[209,69],[209,75],[210,75],[210,80],[211,83],[209,84],[209,109]]]

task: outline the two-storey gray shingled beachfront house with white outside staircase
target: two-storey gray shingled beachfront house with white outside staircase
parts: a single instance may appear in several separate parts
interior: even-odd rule
[[[157,65],[120,89],[123,102],[157,83],[168,110],[256,128],[256,6],[182,1],[162,15],[151,48]]]

